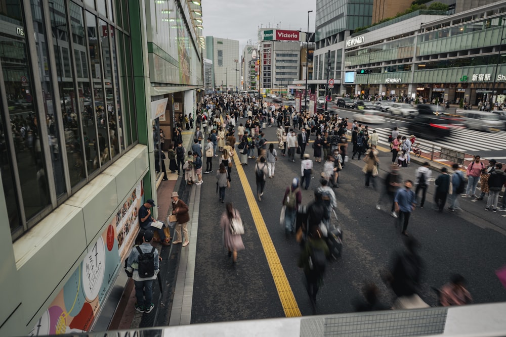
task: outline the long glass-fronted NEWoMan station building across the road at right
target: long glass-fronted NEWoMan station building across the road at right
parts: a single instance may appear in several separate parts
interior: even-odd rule
[[[428,20],[428,18],[430,20]],[[424,22],[419,24],[419,21]],[[428,100],[506,99],[506,2],[450,16],[420,16],[376,29],[346,49],[347,71],[357,74],[348,93],[395,94]],[[421,27],[421,29],[420,29]],[[395,79],[395,81],[391,80]]]

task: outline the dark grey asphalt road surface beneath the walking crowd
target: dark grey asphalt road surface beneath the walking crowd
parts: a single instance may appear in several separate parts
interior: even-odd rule
[[[240,121],[239,121],[240,122]],[[275,127],[265,130],[268,140],[276,140]],[[277,146],[275,147],[277,148]],[[308,147],[307,153],[312,155]],[[381,153],[380,177],[386,172],[390,153]],[[244,169],[249,188],[256,190],[254,159]],[[334,189],[338,198],[338,215],[344,230],[344,252],[338,261],[329,263],[324,286],[318,294],[317,313],[332,314],[354,311],[354,302],[360,298],[364,282],[375,282],[381,291],[381,300],[392,304],[393,293],[384,285],[381,274],[390,261],[403,249],[401,227],[387,210],[378,211],[374,205],[379,192],[364,187],[362,161],[350,161],[341,173],[341,188]],[[248,207],[244,188],[235,166],[231,188],[226,201],[232,201],[241,213],[246,233],[246,247],[239,252],[235,269],[226,249],[222,248],[220,217],[225,204],[216,194],[215,172],[203,176],[200,199],[200,225],[197,239],[192,323],[234,321],[284,317],[260,238]],[[323,164],[315,164],[310,190],[303,190],[303,203],[313,199],[312,188],[317,187]],[[413,178],[417,165],[402,168],[403,178]],[[303,272],[297,267],[300,247],[294,237],[286,238],[279,226],[279,211],[286,186],[293,177],[300,176],[300,160],[295,163],[279,156],[275,177],[268,179],[259,208],[279,255],[291,290],[303,315],[311,315],[311,305],[303,284]],[[437,173],[433,173],[433,177]],[[381,184],[381,181],[378,181]],[[423,288],[420,297],[436,304],[431,286],[439,287],[448,281],[451,273],[458,272],[468,279],[468,288],[475,303],[506,301],[495,270],[506,264],[506,219],[504,212],[486,212],[483,202],[459,200],[463,211],[442,214],[432,210],[434,186],[429,188],[425,208],[417,208],[411,216],[408,232],[421,244],[420,255],[425,262]],[[387,207],[384,207],[386,209]]]

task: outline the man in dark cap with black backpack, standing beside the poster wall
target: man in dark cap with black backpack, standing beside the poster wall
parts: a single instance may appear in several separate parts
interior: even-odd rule
[[[151,246],[153,231],[148,229],[142,235],[142,244],[132,249],[126,262],[126,272],[132,275],[135,284],[135,310],[150,313],[154,308],[153,280],[159,269],[158,251]]]

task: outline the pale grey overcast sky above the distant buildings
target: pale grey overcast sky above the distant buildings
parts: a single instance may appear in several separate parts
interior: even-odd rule
[[[239,40],[239,54],[251,40],[258,40],[258,28],[308,29],[314,32],[315,0],[203,0],[204,36]],[[281,26],[279,24],[281,22]]]

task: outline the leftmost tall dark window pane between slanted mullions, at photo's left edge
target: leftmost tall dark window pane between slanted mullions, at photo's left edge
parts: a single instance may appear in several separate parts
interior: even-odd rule
[[[16,130],[15,139],[5,139],[4,146],[8,147],[10,142],[14,142],[16,148],[16,162],[18,167],[19,179],[21,182],[21,197],[23,199],[24,212],[26,219],[29,220],[37,213],[50,205],[50,196],[48,189],[48,174],[45,170],[44,154],[46,151],[41,146],[40,125],[35,105],[33,104],[33,83],[31,77],[31,65],[27,53],[27,45],[24,37],[24,22],[21,16],[21,4],[19,1],[11,2],[12,6],[3,13],[4,17],[9,18],[7,25],[14,24],[20,27],[22,34],[16,31],[12,35],[3,34],[0,36],[3,53],[0,55],[2,60],[2,71],[6,87],[5,97],[8,98],[9,111],[5,120],[15,121],[11,126]],[[4,94],[4,93],[2,93]],[[24,130],[22,128],[24,127]],[[4,135],[5,137],[5,135]],[[2,157],[7,154],[2,154]],[[6,162],[7,159],[2,159]],[[5,179],[3,177],[3,179]],[[9,185],[7,185],[9,186]],[[7,187],[9,188],[9,187]],[[4,191],[5,192],[5,191]],[[12,213],[12,210],[10,210]],[[11,219],[9,219],[11,221]],[[11,229],[19,221],[13,219]]]

